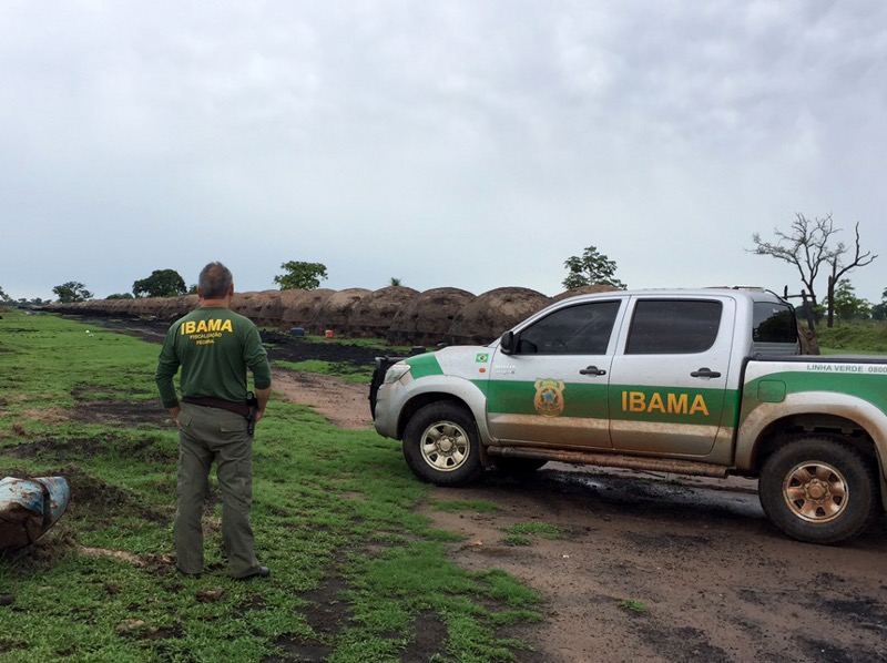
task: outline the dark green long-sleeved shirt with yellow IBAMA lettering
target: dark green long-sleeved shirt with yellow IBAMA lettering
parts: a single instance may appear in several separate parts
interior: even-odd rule
[[[182,367],[182,397],[246,400],[246,369],[256,389],[271,386],[271,366],[258,329],[224,306],[192,310],[166,333],[156,380],[163,407],[179,405],[173,377]]]

